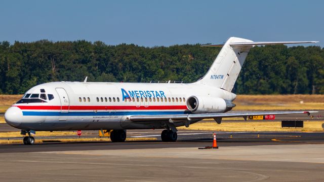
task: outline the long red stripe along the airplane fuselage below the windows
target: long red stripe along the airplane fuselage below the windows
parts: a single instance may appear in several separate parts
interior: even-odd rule
[[[60,105],[16,105],[21,110],[61,110]],[[186,110],[186,105],[150,105],[133,106],[133,105],[70,105],[62,106],[62,110]]]

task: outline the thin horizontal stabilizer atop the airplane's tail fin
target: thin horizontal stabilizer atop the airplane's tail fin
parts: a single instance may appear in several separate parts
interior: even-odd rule
[[[255,46],[255,45],[276,45],[276,44],[305,44],[305,43],[318,43],[318,41],[298,41],[298,42],[247,42],[247,43],[230,43],[230,46]],[[222,44],[209,44],[201,45],[200,47],[222,47]]]

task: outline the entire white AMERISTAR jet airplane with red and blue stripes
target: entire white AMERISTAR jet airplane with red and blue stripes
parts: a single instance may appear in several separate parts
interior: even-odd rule
[[[6,122],[33,144],[35,131],[112,130],[111,141],[126,139],[127,129],[161,129],[163,141],[176,141],[177,128],[212,118],[310,114],[313,111],[226,113],[235,104],[231,93],[239,71],[256,45],[311,42],[253,42],[229,38],[202,47],[223,48],[207,74],[194,83],[50,82],[29,89],[5,113]]]

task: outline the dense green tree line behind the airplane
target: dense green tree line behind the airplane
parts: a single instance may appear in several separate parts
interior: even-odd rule
[[[53,81],[195,82],[221,48],[195,45],[65,41],[0,42],[0,94],[22,94]],[[238,76],[236,94],[324,94],[324,49],[263,46],[251,49]]]

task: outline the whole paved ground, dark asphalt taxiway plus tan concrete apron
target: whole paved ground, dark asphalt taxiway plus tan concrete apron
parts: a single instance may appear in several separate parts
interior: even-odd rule
[[[212,144],[210,131],[179,131],[177,142],[159,141],[159,132],[128,132],[157,141],[3,144],[0,180],[324,180],[324,133],[218,132],[218,150],[199,150]]]

